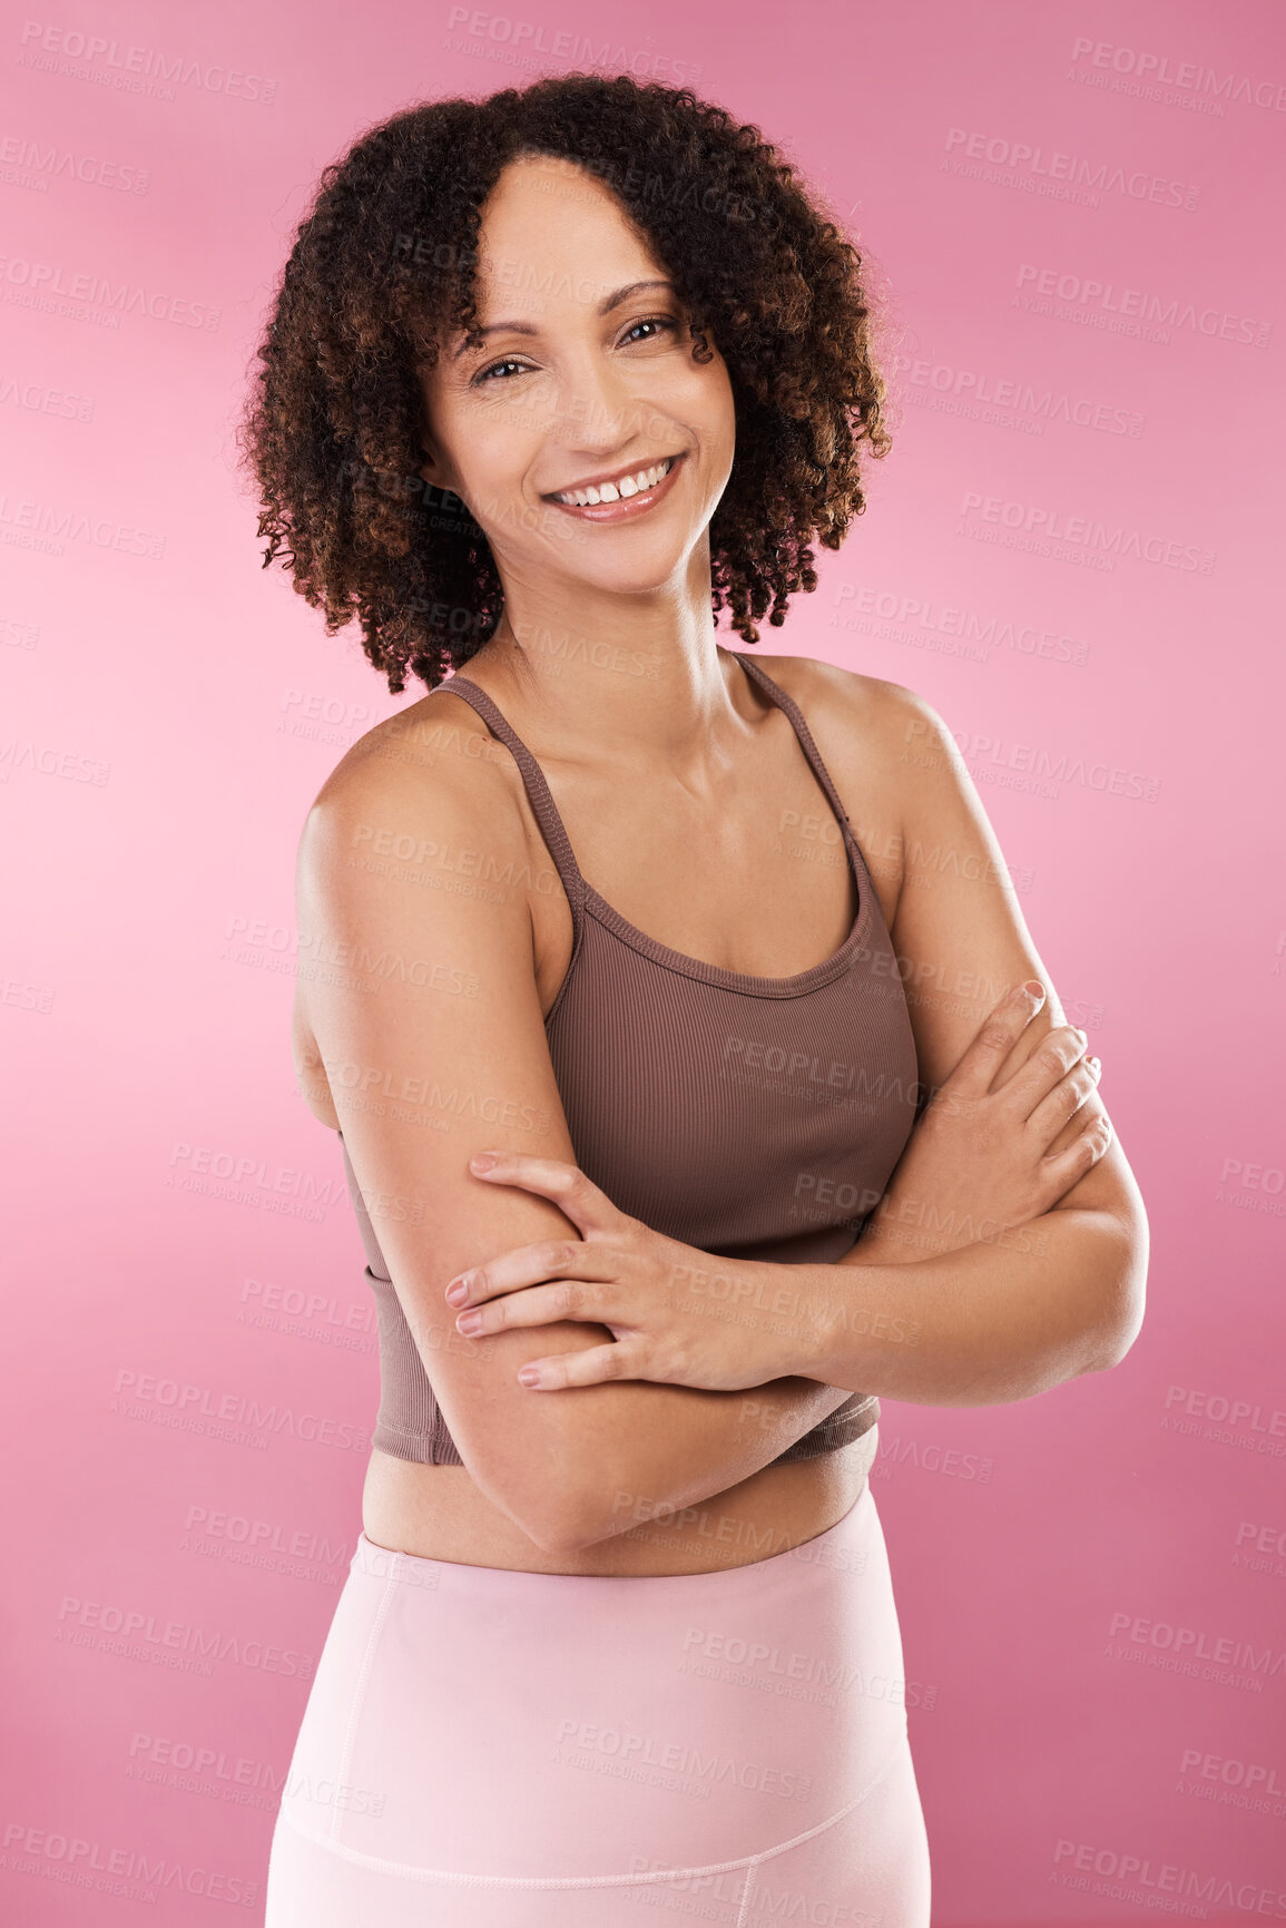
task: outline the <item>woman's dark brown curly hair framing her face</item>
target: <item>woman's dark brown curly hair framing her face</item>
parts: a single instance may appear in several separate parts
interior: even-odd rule
[[[299,224],[239,424],[268,536],[330,636],[359,617],[399,694],[436,688],[496,630],[492,548],[418,474],[416,364],[480,339],[480,208],[522,154],[602,179],[683,297],[692,355],[725,359],[737,451],[710,522],[711,603],[752,644],[814,590],[817,536],[839,549],[866,507],[858,443],[889,447],[862,256],[754,125],[688,87],[569,73],[484,100],[432,100],[328,166]]]

